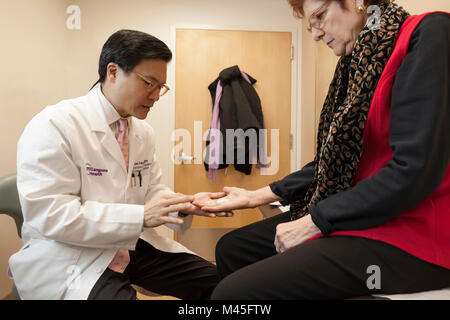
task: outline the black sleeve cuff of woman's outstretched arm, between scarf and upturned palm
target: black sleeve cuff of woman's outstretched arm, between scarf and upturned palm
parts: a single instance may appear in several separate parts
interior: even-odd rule
[[[273,193],[279,196],[283,205],[305,196],[309,185],[314,178],[315,162],[312,161],[301,170],[291,173],[282,180],[278,180],[269,185]]]

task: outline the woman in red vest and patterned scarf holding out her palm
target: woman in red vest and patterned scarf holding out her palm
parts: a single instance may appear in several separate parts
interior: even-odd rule
[[[225,235],[213,299],[342,299],[450,286],[450,18],[383,0],[289,0],[341,56],[313,162],[209,211],[290,212]],[[375,5],[376,7],[369,7]],[[372,11],[371,9],[376,10]]]

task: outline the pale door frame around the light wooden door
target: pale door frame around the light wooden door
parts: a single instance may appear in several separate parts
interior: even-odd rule
[[[222,26],[222,25],[189,25],[189,24],[177,24],[172,25],[170,28],[170,45],[173,48],[172,62],[168,66],[168,75],[173,79],[174,92],[176,92],[176,34],[179,29],[196,29],[196,30],[220,30],[220,31],[261,31],[261,32],[290,32],[291,33],[291,47],[293,48],[292,61],[291,61],[291,136],[292,136],[292,149],[290,150],[290,172],[301,169],[301,64],[302,61],[302,39],[301,39],[301,27],[287,27],[287,26]],[[169,122],[170,132],[175,130],[175,95],[171,101],[169,108]],[[171,148],[173,145],[171,144]],[[171,158],[172,152],[168,153],[166,159],[168,163],[172,163],[169,166],[168,181],[169,187],[172,190],[175,187],[175,167]],[[281,155],[280,155],[281,156]]]

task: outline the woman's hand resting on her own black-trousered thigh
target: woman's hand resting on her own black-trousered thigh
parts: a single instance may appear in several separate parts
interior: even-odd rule
[[[278,253],[282,253],[319,233],[321,233],[320,229],[312,221],[311,215],[304,216],[298,220],[280,223],[277,225],[277,233],[275,235],[275,249]]]

